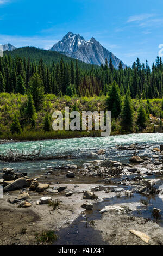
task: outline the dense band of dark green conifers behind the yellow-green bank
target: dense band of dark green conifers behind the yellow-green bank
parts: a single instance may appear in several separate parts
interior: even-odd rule
[[[43,51],[43,50],[42,50]],[[68,58],[68,57],[67,57]],[[87,64],[85,64],[87,65]],[[85,66],[86,67],[86,66]],[[78,60],[59,62],[46,65],[42,59],[39,62],[20,56],[5,55],[0,58],[0,92],[26,94],[30,88],[30,79],[37,74],[43,84],[45,94],[57,96],[101,96],[109,95],[111,84],[115,81],[121,96],[126,95],[129,87],[131,98],[153,99],[163,96],[163,64],[157,57],[152,70],[146,64],[140,63],[139,58],[133,66],[122,69],[120,62],[118,70],[112,62],[101,67],[87,66],[82,69]]]

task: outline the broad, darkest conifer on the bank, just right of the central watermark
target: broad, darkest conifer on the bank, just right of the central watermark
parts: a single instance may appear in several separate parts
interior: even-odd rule
[[[109,92],[109,96],[106,99],[108,111],[111,111],[111,118],[117,118],[121,113],[122,102],[120,96],[120,89],[114,81]]]

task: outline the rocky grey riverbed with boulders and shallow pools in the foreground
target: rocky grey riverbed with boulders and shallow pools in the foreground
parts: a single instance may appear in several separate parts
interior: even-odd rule
[[[36,233],[52,230],[54,245],[162,245],[162,147],[139,156],[142,145],[116,145],[117,155],[129,152],[126,162],[99,148],[87,162],[67,160],[33,175],[5,163],[0,244],[35,245]]]

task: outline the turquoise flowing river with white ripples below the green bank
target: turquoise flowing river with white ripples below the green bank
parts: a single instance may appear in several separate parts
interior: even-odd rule
[[[139,145],[147,145],[148,147],[139,150],[139,155],[151,156],[151,149],[159,147],[163,143],[163,133],[140,133],[130,135],[118,135],[109,137],[96,137],[96,138],[73,138],[73,139],[60,139],[60,140],[46,140],[46,141],[27,141],[6,143],[0,145],[1,152],[9,149],[24,150],[24,152],[32,152],[39,150],[41,145],[42,156],[70,156],[65,159],[54,160],[39,160],[39,161],[24,161],[18,163],[0,163],[0,169],[3,167],[11,167],[19,170],[26,170],[28,174],[39,174],[43,169],[48,166],[63,166],[67,163],[83,164],[92,159],[110,159],[120,161],[122,163],[128,162],[131,151],[115,150],[117,144],[126,145],[138,143]],[[92,152],[99,149],[105,149],[106,154],[103,156],[92,156]]]

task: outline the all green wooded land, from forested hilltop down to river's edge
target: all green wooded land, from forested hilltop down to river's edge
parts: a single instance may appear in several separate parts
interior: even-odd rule
[[[111,111],[113,134],[154,132],[157,125],[162,131],[163,63],[160,57],[152,69],[148,61],[141,64],[139,58],[131,67],[123,69],[120,62],[115,69],[107,59],[104,65],[95,66],[57,52],[52,56],[49,53],[51,51],[24,47],[4,52],[0,58],[1,113],[3,117],[8,112],[9,119],[7,124],[1,124],[2,138],[11,138],[11,135],[27,138],[27,134],[24,135],[27,132],[30,132],[29,138],[33,138],[31,132],[40,131],[40,127],[43,132],[52,133],[51,114],[56,108],[64,109],[63,99],[73,110]],[[16,107],[10,113],[14,101]],[[58,101],[60,104],[55,105]],[[45,133],[41,138],[45,138]]]

